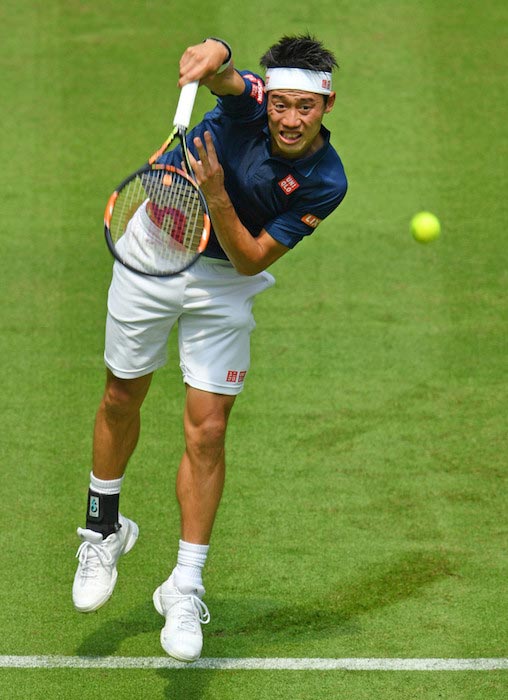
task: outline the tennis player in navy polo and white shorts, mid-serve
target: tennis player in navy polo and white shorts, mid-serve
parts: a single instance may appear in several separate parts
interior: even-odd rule
[[[161,644],[194,661],[202,650],[202,570],[225,475],[229,415],[250,363],[253,300],[274,284],[266,270],[342,201],[341,160],[322,121],[335,103],[333,54],[313,37],[284,37],[261,58],[264,80],[235,70],[231,48],[207,38],[186,49],[179,86],[199,80],[215,108],[190,132],[195,176],[213,231],[204,255],[169,278],[114,264],[108,296],[107,378],[94,429],[86,527],[73,585],[77,610],[91,612],[113,593],[117,562],[138,537],[119,514],[124,472],[138,441],[140,409],[153,373],[166,363],[178,322],[186,387],[185,451],[176,478],[181,531],[176,566],[155,591],[165,617]],[[162,157],[180,166],[179,149]]]

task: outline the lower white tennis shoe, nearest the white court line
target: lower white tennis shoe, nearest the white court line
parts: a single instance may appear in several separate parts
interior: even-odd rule
[[[208,608],[201,600],[202,586],[182,592],[169,577],[153,594],[153,604],[166,618],[161,630],[164,651],[178,661],[196,661],[203,648],[201,625],[210,622]]]

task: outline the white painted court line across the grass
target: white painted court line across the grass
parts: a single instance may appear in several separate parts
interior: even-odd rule
[[[0,656],[0,668],[205,669],[243,671],[499,671],[508,658],[491,659],[199,659],[191,664],[162,656]]]

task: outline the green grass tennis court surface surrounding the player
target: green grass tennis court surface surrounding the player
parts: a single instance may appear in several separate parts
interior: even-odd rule
[[[183,6],[179,6],[180,11]],[[504,0],[4,0],[0,655],[157,657],[178,538],[175,343],[122,491],[108,605],[70,590],[103,387],[111,189],[166,135],[177,61],[309,29],[350,189],[272,268],[205,570],[207,658],[508,656]],[[203,91],[195,115],[213,104]],[[428,246],[409,220],[429,209]],[[6,506],[6,507],[5,507]],[[506,671],[0,668],[0,697],[501,700]]]

